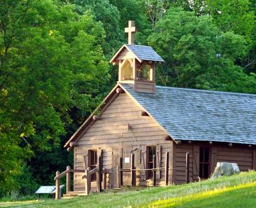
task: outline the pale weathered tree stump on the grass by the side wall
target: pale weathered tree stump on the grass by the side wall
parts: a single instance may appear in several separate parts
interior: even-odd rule
[[[235,175],[239,174],[240,170],[238,168],[238,164],[229,163],[229,162],[217,162],[217,166],[212,174],[211,179],[216,179],[217,177],[221,177],[223,175]]]

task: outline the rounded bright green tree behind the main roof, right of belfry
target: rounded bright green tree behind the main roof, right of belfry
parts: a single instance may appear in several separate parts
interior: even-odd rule
[[[234,63],[247,54],[246,40],[230,31],[222,33],[210,16],[171,8],[149,42],[166,61],[158,69],[162,85],[256,92],[255,76]]]

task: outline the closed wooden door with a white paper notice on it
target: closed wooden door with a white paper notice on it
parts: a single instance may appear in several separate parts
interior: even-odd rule
[[[132,147],[123,147],[123,168],[130,169],[130,154]],[[131,185],[130,171],[123,173],[123,185]]]

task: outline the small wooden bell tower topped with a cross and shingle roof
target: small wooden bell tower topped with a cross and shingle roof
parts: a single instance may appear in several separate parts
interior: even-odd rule
[[[118,83],[130,85],[134,91],[156,93],[155,65],[164,60],[151,46],[134,45],[136,31],[134,22],[129,21],[125,29],[128,44],[124,44],[110,62],[119,66]]]

